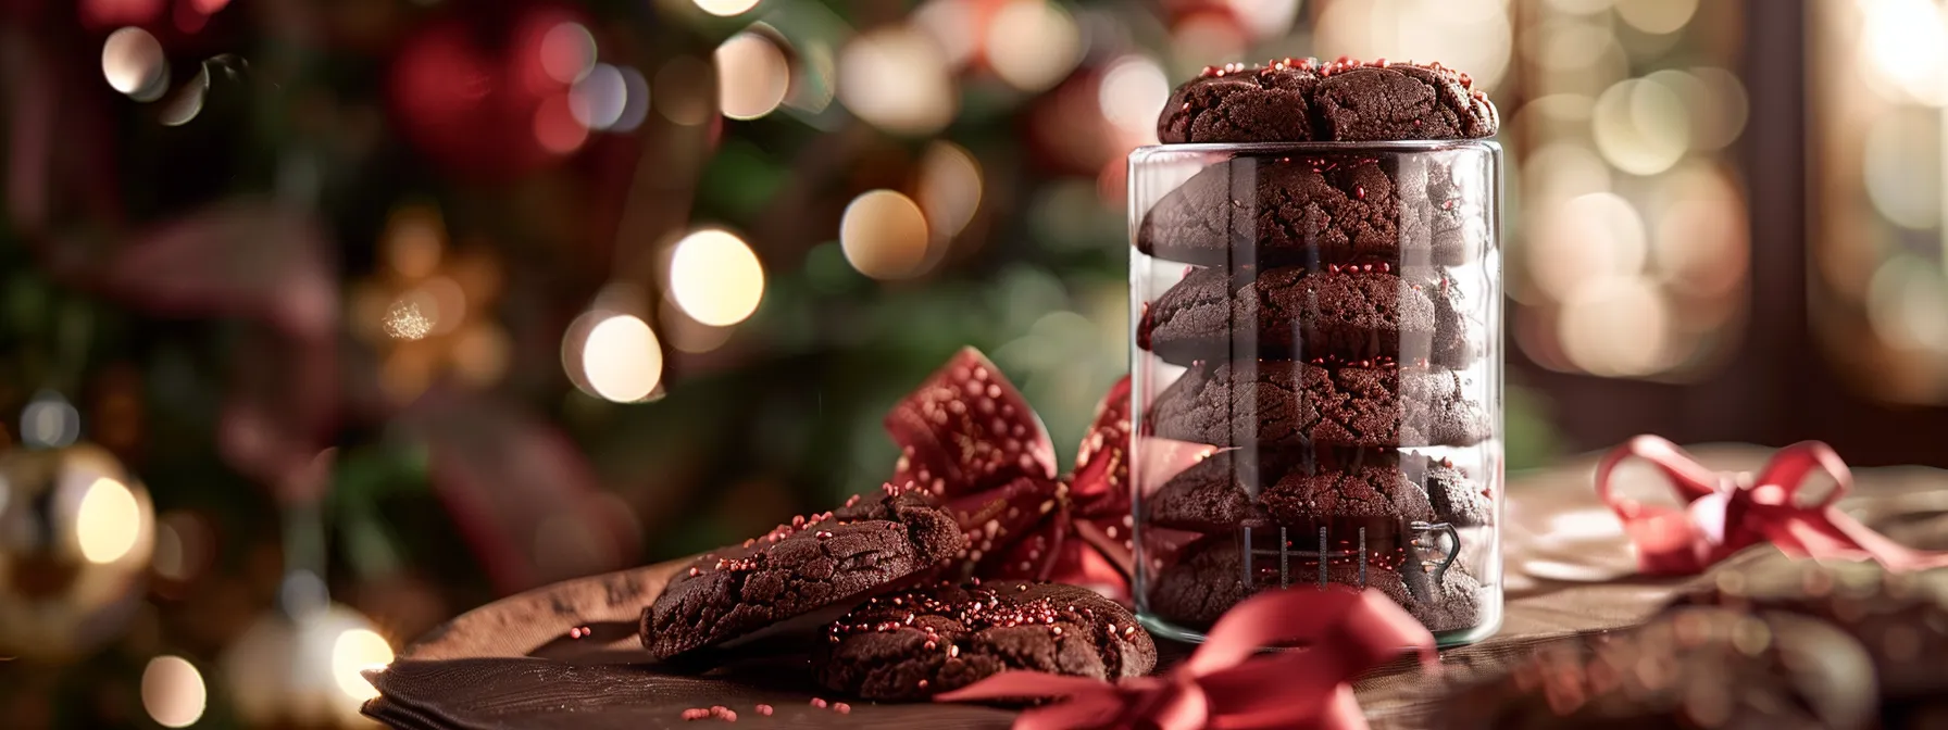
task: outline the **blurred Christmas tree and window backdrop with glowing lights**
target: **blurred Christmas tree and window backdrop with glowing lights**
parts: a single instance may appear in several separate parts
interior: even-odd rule
[[[1934,0],[0,2],[0,726],[355,726],[481,602],[884,479],[986,350],[1073,454],[1171,86],[1440,60],[1510,465],[1948,465]],[[1064,456],[1068,459],[1068,456]]]

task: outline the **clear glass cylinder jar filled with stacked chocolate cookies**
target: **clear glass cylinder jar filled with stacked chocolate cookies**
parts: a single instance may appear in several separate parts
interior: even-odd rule
[[[1502,621],[1502,148],[1130,156],[1136,598],[1200,640],[1264,588]]]

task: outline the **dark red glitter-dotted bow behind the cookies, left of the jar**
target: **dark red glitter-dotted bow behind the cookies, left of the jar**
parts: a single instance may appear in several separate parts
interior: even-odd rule
[[[900,444],[890,487],[941,500],[966,531],[962,572],[1130,600],[1130,378],[1103,395],[1068,477],[1042,419],[972,347],[902,399],[886,432]]]

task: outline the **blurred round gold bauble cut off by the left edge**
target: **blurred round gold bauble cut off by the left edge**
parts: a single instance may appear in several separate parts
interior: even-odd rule
[[[0,656],[80,658],[140,605],[156,514],[113,454],[0,454]]]

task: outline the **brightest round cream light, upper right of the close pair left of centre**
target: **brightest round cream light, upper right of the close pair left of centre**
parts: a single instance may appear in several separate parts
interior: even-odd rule
[[[744,239],[725,230],[699,230],[676,241],[670,255],[670,298],[692,319],[729,327],[758,311],[764,267]]]

